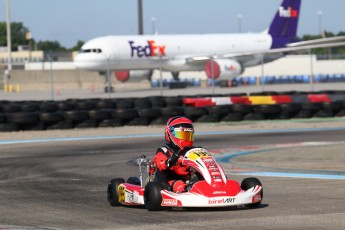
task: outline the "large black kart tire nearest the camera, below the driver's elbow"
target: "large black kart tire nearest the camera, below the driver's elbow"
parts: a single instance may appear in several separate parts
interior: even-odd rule
[[[149,182],[145,186],[144,192],[144,202],[145,207],[149,211],[161,211],[163,207],[162,203],[162,195],[161,191],[163,190],[163,186],[161,183],[158,182]]]

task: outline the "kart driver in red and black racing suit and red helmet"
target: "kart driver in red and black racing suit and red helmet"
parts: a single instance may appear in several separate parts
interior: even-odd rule
[[[176,116],[165,126],[165,144],[157,149],[153,158],[157,170],[155,178],[165,189],[180,193],[185,190],[189,174],[187,166],[178,163],[178,158],[191,149],[194,142],[193,122],[186,117]]]

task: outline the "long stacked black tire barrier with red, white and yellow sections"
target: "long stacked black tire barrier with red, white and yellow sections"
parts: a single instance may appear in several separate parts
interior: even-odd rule
[[[200,123],[344,117],[345,92],[0,101],[0,131],[165,125],[179,115]]]

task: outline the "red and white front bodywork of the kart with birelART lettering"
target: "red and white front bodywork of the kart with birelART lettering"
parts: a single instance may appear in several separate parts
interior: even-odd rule
[[[183,193],[162,190],[162,206],[222,207],[261,201],[261,196],[256,196],[261,186],[243,191],[238,182],[226,178],[223,168],[203,148],[191,149],[180,162],[198,171],[204,180]]]

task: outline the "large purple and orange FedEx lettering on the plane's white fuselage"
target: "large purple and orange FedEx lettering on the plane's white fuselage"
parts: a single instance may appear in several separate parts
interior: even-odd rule
[[[154,40],[148,40],[147,45],[136,45],[134,41],[128,41],[131,47],[131,57],[155,57],[165,56],[165,46],[156,45]]]

